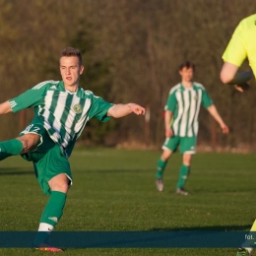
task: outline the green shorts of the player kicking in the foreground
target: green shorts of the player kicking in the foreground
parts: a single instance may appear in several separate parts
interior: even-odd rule
[[[69,160],[66,159],[58,144],[55,144],[44,129],[40,120],[35,117],[31,124],[21,132],[20,136],[32,133],[40,136],[37,149],[22,155],[25,160],[32,160],[36,179],[44,194],[51,193],[48,181],[54,176],[64,173],[72,185],[72,173]]]

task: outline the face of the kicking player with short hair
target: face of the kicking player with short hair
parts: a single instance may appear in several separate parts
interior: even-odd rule
[[[61,57],[60,74],[67,90],[75,91],[79,86],[79,78],[84,71],[84,67],[79,64],[76,56]]]

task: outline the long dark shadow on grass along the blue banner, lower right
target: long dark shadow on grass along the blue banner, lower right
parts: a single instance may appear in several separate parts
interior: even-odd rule
[[[251,224],[241,225],[211,225],[211,226],[188,226],[188,227],[154,227],[151,231],[245,231],[251,228]]]

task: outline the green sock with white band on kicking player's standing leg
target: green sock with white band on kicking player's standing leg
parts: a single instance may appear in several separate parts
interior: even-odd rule
[[[50,231],[59,222],[63,214],[66,198],[66,193],[59,191],[51,192],[50,199],[42,212],[39,229],[33,241],[33,246],[45,242],[45,240],[48,238]]]

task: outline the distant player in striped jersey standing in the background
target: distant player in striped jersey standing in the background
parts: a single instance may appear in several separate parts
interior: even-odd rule
[[[162,191],[163,170],[167,160],[179,146],[183,162],[179,170],[175,193],[185,196],[188,195],[188,192],[184,189],[184,185],[190,172],[192,156],[196,153],[198,115],[201,103],[220,124],[223,133],[228,133],[227,126],[205,88],[201,84],[193,82],[194,69],[194,64],[189,61],[180,65],[181,83],[174,86],[167,97],[164,107],[165,141],[162,145],[162,154],[158,160],[156,173],[157,189]]]

